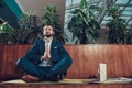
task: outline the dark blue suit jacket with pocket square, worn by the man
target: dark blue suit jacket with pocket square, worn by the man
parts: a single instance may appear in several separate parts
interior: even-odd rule
[[[34,61],[36,64],[41,63],[41,56],[45,52],[45,42],[43,40],[37,40],[34,42],[32,47],[25,53],[24,57]],[[64,56],[69,56],[67,51],[64,48],[63,44],[53,38],[51,44],[51,59],[53,64],[61,61]]]

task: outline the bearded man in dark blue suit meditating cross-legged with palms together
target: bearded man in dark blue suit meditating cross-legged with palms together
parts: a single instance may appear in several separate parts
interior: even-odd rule
[[[52,25],[45,25],[43,34],[44,38],[37,40],[16,63],[26,73],[22,76],[25,81],[59,80],[73,63],[63,44],[53,37]]]

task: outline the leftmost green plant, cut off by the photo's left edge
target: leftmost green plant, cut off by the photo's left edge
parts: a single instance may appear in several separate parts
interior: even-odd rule
[[[11,44],[13,42],[13,32],[14,29],[8,22],[0,24],[0,44]]]

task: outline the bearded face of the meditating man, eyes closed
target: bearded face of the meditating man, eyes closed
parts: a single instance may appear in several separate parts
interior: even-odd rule
[[[46,37],[53,36],[53,35],[54,35],[53,28],[52,28],[51,25],[45,25],[45,26],[43,28],[43,34],[44,34],[44,36],[46,36]]]

